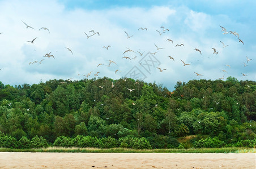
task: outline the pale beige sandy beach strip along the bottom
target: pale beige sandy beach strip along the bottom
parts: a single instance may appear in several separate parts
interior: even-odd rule
[[[1,152],[0,168],[256,168],[256,154]]]

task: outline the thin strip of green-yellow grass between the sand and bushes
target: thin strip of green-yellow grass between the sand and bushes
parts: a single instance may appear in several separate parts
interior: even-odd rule
[[[50,146],[40,149],[7,149],[0,152],[54,152],[54,153],[256,153],[255,148],[198,148],[198,149],[127,149],[127,148],[63,148]]]

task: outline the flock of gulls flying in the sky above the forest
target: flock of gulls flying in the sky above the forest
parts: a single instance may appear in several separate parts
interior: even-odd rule
[[[33,28],[32,26],[29,26],[28,24],[26,24],[24,21],[22,21],[22,22],[25,24],[25,28],[27,28],[27,29],[28,29],[28,28],[30,28],[30,29],[35,29],[35,28]],[[220,26],[220,27],[221,27],[221,32],[224,32],[224,33],[223,33],[224,35],[225,35],[225,34],[233,34],[233,35],[238,39],[238,42],[240,42],[240,43],[242,43],[242,45],[244,45],[244,42],[240,39],[240,36],[239,36],[239,34],[238,34],[237,32],[227,31],[227,29],[225,29],[223,26]],[[50,30],[49,30],[48,28],[45,28],[45,27],[42,27],[42,28],[40,28],[39,30],[47,30],[47,31],[50,33]],[[148,30],[147,28],[142,28],[142,27],[138,29],[138,31],[147,31],[147,30]],[[160,27],[160,30],[156,30],[156,32],[159,33],[159,35],[161,36],[162,34],[164,34],[164,33],[166,34],[167,32],[169,32],[169,29],[168,29],[168,28],[164,28],[164,26],[161,26],[161,27]],[[126,31],[124,31],[124,33],[126,34],[126,38],[127,38],[127,39],[129,39],[129,38],[131,38],[131,37],[134,37],[134,35],[130,35],[130,34],[127,33]],[[0,33],[0,34],[2,34],[2,33]],[[100,33],[99,33],[99,32],[96,32],[95,30],[90,30],[88,33],[84,32],[84,34],[86,35],[87,39],[89,39],[90,37],[93,37],[94,35],[100,36]],[[36,40],[37,40],[37,37],[33,38],[32,41],[27,41],[27,43],[35,43]],[[172,42],[172,44],[174,43],[172,39],[167,39],[166,42]],[[220,41],[220,42],[222,43],[223,48],[228,47],[228,45],[225,45],[224,42],[222,42],[222,41]],[[155,43],[154,43],[154,45],[155,45],[155,47],[156,47],[156,51],[155,51],[155,52],[150,52],[151,55],[156,55],[156,54],[159,52],[159,50],[164,50],[163,47],[159,47],[159,46],[157,46]],[[111,47],[112,47],[112,46],[110,46],[110,45],[103,46],[103,48],[105,48],[105,50],[109,50],[109,48],[111,48]],[[185,45],[184,45],[183,43],[181,43],[181,44],[175,45],[175,47],[185,47]],[[73,55],[73,52],[72,52],[72,50],[71,50],[69,47],[65,47],[65,48],[66,48],[66,50],[67,50],[68,52],[70,52],[70,53]],[[126,48],[127,48],[127,47],[126,47]],[[202,55],[202,51],[201,51],[199,48],[194,48],[194,50],[195,50],[195,52],[199,52],[199,54]],[[219,52],[216,51],[216,48],[212,48],[212,50],[213,50],[213,54],[216,54],[216,55],[219,54]],[[131,50],[130,48],[127,48],[127,50],[125,50],[125,51],[123,52],[123,55],[124,55],[124,54],[128,54],[129,52],[133,52],[133,54],[139,54],[140,56],[143,56],[143,54],[144,54],[144,51],[143,51],[143,52],[141,52],[141,51],[136,51],[136,52],[135,52],[134,50]],[[54,55],[52,55],[52,52],[46,53],[46,54],[45,54],[44,56],[42,56],[42,57],[48,57],[48,58],[49,58],[49,57],[53,57],[53,59],[55,59]],[[134,57],[123,56],[122,59],[135,60],[136,57],[137,57],[137,56],[134,56]],[[169,57],[170,60],[175,61],[175,59],[174,59],[173,56],[167,56],[167,57]],[[185,63],[185,61],[182,60],[182,59],[180,59],[180,60],[181,60],[181,62],[182,62],[182,64],[183,64],[184,66],[189,66],[189,65],[191,65],[191,64],[189,64],[189,63]],[[252,59],[249,59],[248,56],[246,56],[246,63],[244,62],[244,66],[248,66],[247,63],[249,63],[249,61],[251,61],[251,60],[252,60]],[[38,60],[31,61],[31,62],[29,62],[29,65],[31,65],[31,64],[41,64],[42,61],[45,61],[45,59],[41,59],[40,61],[38,61]],[[109,63],[108,63],[108,64],[99,63],[99,64],[97,65],[97,68],[98,68],[99,66],[104,66],[104,65],[110,67],[112,64],[118,65],[115,61],[109,60]],[[142,63],[140,63],[140,64],[142,64]],[[231,67],[231,66],[228,65],[228,64],[227,64],[226,66],[229,66],[229,68]],[[166,68],[159,68],[159,67],[157,67],[157,69],[159,69],[159,72],[163,72],[164,70],[167,70]],[[1,69],[0,69],[0,70],[1,70]],[[223,71],[223,72],[227,73],[226,70],[220,70],[220,71]],[[91,75],[92,72],[93,72],[93,71],[91,71],[91,72],[89,72],[89,73],[87,73],[87,74],[83,74],[83,75],[88,78],[88,77]],[[116,70],[115,70],[115,73],[117,73],[117,72],[121,72],[121,71],[118,70],[118,69],[116,69]],[[99,71],[96,72],[96,73],[94,74],[94,76],[95,76],[95,77],[99,76],[99,73],[100,73]],[[203,75],[203,74],[199,74],[199,73],[197,73],[197,72],[194,72],[194,73],[195,73],[197,76],[202,76],[202,75]],[[78,75],[80,75],[80,74],[78,74]],[[246,74],[242,73],[242,75],[244,76],[244,75],[246,75]],[[72,79],[72,78],[67,79],[67,81],[71,81],[71,79]],[[224,79],[224,75],[223,75],[223,77],[220,77],[219,79]],[[61,82],[61,83],[65,83],[65,82]],[[104,86],[99,86],[99,87],[100,87],[100,88],[103,88]],[[114,87],[113,82],[112,82],[112,86],[111,86],[111,87]],[[127,89],[128,89],[130,92],[134,90],[134,89],[129,89],[129,88],[127,88]]]

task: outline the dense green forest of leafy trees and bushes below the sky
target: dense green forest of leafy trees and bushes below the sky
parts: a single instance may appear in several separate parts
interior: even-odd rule
[[[0,147],[255,148],[255,81],[174,88],[107,77],[0,82]]]

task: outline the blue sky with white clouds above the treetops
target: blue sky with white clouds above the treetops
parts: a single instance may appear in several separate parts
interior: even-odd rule
[[[254,0],[0,0],[0,81],[127,77],[170,91],[193,79],[255,81],[255,8]]]

